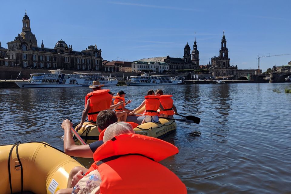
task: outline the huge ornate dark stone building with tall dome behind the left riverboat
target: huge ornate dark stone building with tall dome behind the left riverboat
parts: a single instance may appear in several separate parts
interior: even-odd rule
[[[41,47],[38,47],[35,34],[31,32],[30,20],[26,12],[22,19],[22,32],[7,45],[8,66],[72,70],[102,69],[101,49],[97,49],[96,45],[90,45],[83,51],[74,51],[72,45],[68,47],[61,39],[53,49],[45,48],[43,42]]]

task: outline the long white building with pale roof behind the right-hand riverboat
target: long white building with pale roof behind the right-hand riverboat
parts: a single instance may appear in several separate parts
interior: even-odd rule
[[[164,73],[169,70],[169,65],[165,62],[153,61],[134,61],[132,63],[132,72],[157,72]]]

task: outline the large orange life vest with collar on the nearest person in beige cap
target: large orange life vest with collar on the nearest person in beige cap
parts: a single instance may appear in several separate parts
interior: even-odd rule
[[[168,142],[139,134],[121,134],[105,142],[93,155],[86,175],[97,169],[101,194],[187,193],[182,181],[159,161],[177,154]],[[136,182],[136,180],[140,180]]]

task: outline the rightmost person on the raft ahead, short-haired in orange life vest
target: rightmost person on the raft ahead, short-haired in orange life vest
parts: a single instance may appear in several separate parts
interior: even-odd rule
[[[160,110],[160,117],[172,119],[174,114],[177,114],[176,106],[173,104],[172,95],[163,95],[161,89],[157,89],[156,96],[160,97],[160,103],[164,110]]]

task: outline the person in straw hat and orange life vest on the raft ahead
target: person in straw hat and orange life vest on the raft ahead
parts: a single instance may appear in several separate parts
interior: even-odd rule
[[[85,109],[82,113],[81,123],[76,129],[77,131],[82,128],[87,115],[89,122],[95,123],[100,111],[115,109],[117,106],[123,104],[123,102],[119,102],[115,105],[111,105],[112,95],[108,93],[110,90],[101,89],[102,86],[104,86],[104,84],[100,84],[99,81],[93,81],[92,85],[89,86],[89,88],[93,89],[93,92],[90,92],[85,96]]]

